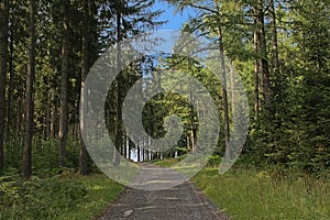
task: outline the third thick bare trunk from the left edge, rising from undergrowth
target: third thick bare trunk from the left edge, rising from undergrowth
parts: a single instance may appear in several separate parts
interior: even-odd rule
[[[63,42],[62,42],[62,76],[61,76],[61,107],[59,107],[59,165],[65,166],[65,146],[67,141],[67,81],[68,81],[68,24],[69,24],[69,0],[64,0]]]

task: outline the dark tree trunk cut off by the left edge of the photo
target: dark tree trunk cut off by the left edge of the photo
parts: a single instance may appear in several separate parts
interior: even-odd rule
[[[0,1],[0,173],[3,168],[9,2]]]

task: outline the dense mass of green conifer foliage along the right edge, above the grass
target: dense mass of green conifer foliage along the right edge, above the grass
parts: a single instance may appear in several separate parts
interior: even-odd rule
[[[304,0],[290,6],[283,15],[290,32],[279,35],[280,75],[271,77],[271,101],[251,128],[246,152],[260,164],[319,173],[330,158],[329,3]]]

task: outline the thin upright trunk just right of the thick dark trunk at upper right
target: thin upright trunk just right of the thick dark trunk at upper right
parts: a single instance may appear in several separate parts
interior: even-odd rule
[[[273,69],[276,76],[279,75],[279,58],[278,58],[278,41],[277,41],[277,26],[276,26],[276,11],[274,0],[271,0],[270,6],[272,35],[273,35]]]

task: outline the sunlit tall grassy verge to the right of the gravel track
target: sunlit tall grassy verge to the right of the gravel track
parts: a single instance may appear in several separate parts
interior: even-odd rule
[[[330,219],[329,179],[292,170],[206,167],[193,179],[232,219]]]

